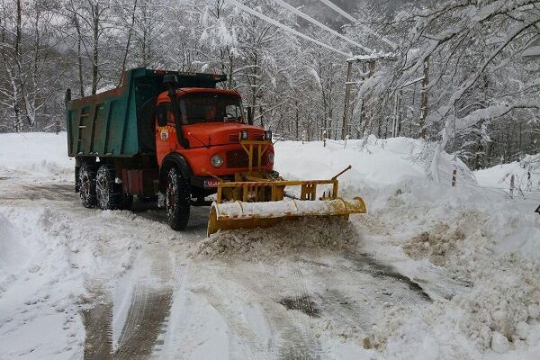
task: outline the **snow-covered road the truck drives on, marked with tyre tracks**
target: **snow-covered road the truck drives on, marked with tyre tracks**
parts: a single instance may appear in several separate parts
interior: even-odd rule
[[[175,233],[146,219],[146,212],[157,219],[159,212],[87,210],[65,179],[26,178],[0,181],[2,208],[11,222],[66,246],[67,257],[56,261],[69,266],[59,274],[45,274],[45,267],[38,272],[44,284],[27,289],[37,302],[20,304],[20,293],[13,293],[11,307],[2,307],[2,315],[14,317],[0,328],[11,349],[6,356],[72,358],[83,351],[88,359],[355,358],[369,356],[363,343],[382,312],[396,303],[417,311],[429,302],[417,284],[367,254],[323,249],[254,261],[234,253],[193,257],[205,238],[206,209],[196,210],[188,231]],[[65,276],[78,278],[81,287],[65,289]],[[28,281],[21,279],[21,286]],[[11,298],[9,289],[3,301]],[[69,290],[75,291],[69,297],[84,302],[58,311],[58,293]],[[23,339],[39,331],[48,313],[63,318],[61,328],[49,329],[52,353]]]

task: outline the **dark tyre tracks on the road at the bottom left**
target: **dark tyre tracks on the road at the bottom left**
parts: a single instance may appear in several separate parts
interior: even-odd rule
[[[174,284],[170,258],[164,252],[165,249],[159,246],[143,247],[133,264],[131,271],[134,273],[123,276],[132,291],[126,293],[130,296],[129,309],[120,324],[116,348],[112,347],[112,302],[97,302],[87,311],[85,348],[88,351],[85,351],[85,359],[146,359],[160,351],[163,340],[158,337],[164,333],[170,315]],[[103,311],[107,311],[106,317],[103,317]],[[106,329],[106,334],[102,329]]]

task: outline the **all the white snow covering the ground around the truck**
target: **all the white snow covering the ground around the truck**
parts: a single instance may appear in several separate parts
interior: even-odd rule
[[[82,358],[84,311],[96,304],[110,305],[111,351],[137,340],[145,304],[163,307],[156,358],[540,353],[538,156],[473,173],[445,152],[433,168],[433,144],[415,139],[277,142],[287,179],[352,165],[340,193],[362,196],[368,214],[347,227],[305,220],[205,238],[203,208],[178,233],[144,217],[155,211],[83,208],[65,139],[0,135],[2,359]]]

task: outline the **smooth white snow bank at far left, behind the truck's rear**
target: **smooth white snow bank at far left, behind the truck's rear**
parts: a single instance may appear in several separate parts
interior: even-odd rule
[[[13,171],[59,175],[73,170],[66,132],[0,134],[0,175]]]

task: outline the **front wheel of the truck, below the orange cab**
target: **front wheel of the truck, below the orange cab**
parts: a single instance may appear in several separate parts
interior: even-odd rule
[[[176,167],[166,176],[166,217],[172,229],[183,230],[189,220],[189,183]]]

